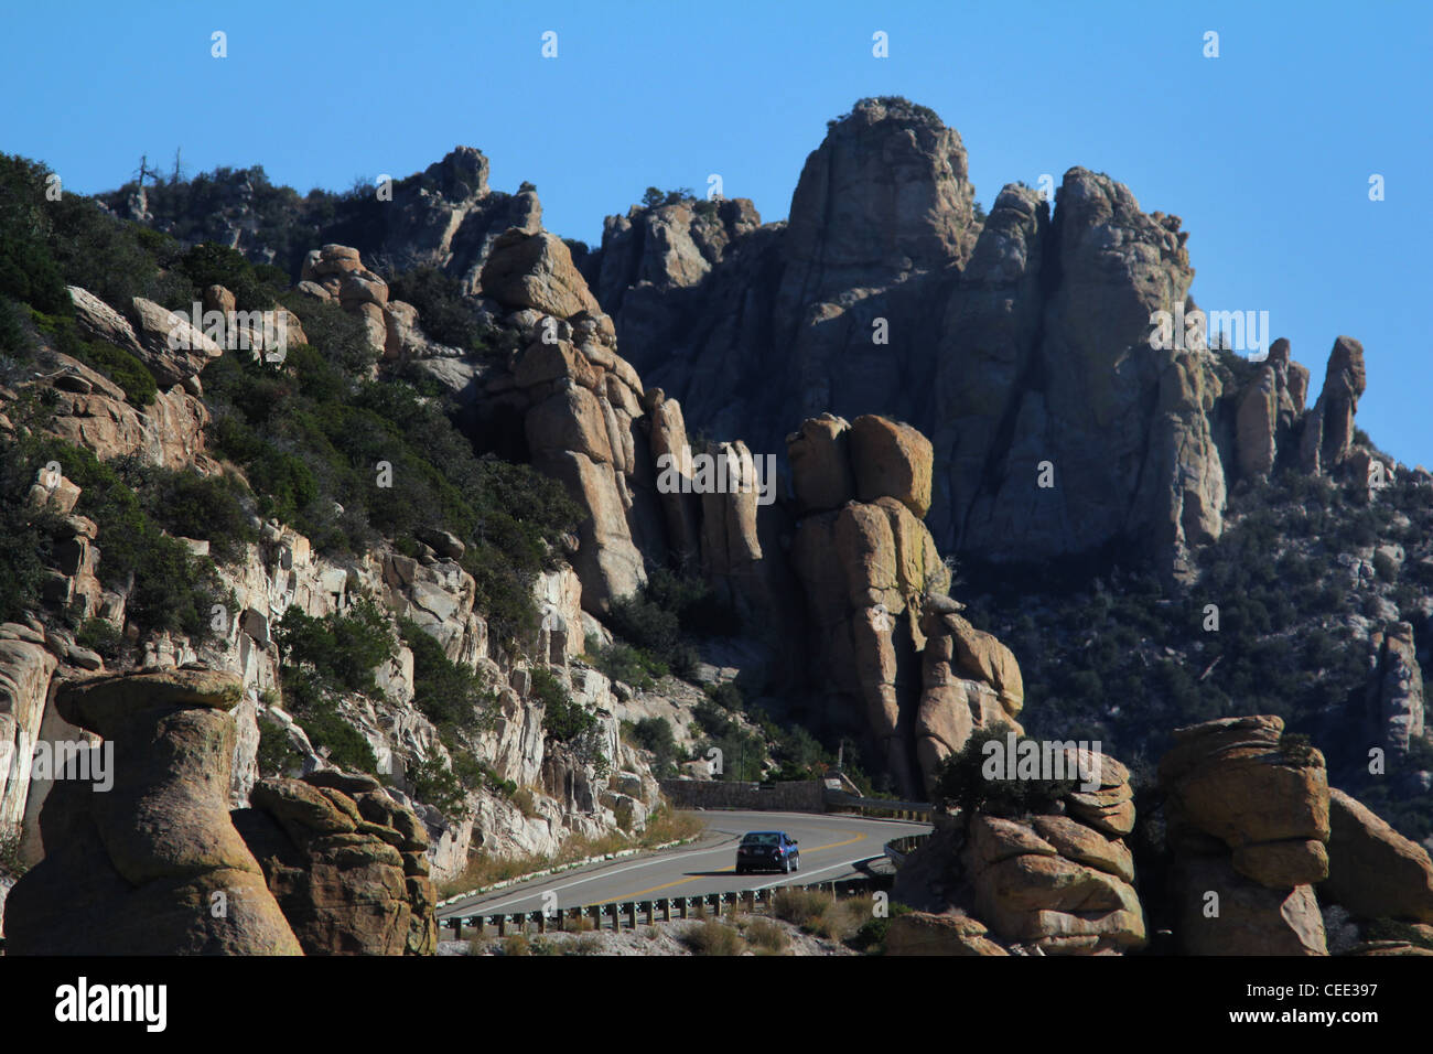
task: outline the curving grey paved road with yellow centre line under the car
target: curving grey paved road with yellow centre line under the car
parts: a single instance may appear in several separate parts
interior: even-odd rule
[[[883,848],[888,840],[931,829],[929,823],[864,816],[725,810],[692,815],[706,825],[706,832],[692,845],[605,860],[520,882],[484,896],[454,901],[438,909],[438,918],[542,911],[546,892],[557,893],[557,908],[576,908],[613,901],[831,882],[864,873],[860,865],[883,858]],[[738,879],[737,842],[748,830],[785,830],[797,839],[801,845],[801,870],[792,875],[742,875]]]

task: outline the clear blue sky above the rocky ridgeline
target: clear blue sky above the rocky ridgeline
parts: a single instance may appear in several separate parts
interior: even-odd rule
[[[262,163],[299,191],[457,143],[596,242],[648,185],[787,214],[825,122],[904,95],[960,130],[977,196],[1072,165],[1184,217],[1205,308],[1267,310],[1321,384],[1360,338],[1358,420],[1433,466],[1427,73],[1433,6],[1369,3],[70,3],[6,11],[0,151],[69,191],[148,153]],[[211,57],[211,33],[228,57]],[[543,59],[542,34],[557,33]],[[886,32],[890,57],[871,54]],[[1219,57],[1202,54],[1219,34]],[[1384,176],[1386,199],[1369,201]]]

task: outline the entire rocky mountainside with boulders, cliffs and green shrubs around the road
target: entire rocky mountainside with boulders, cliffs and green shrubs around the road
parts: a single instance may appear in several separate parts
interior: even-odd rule
[[[1356,427],[1357,340],[1311,407],[1287,341],[1211,348],[1181,221],[1109,176],[986,214],[867,99],[787,222],[656,195],[588,248],[471,148],[53,211],[3,161],[0,746],[150,759],[0,764],[17,951],[427,954],[438,888],[665,830],[711,746],[952,804],[896,948],[1433,922],[1433,476]],[[959,804],[1026,731],[1098,786]],[[1194,938],[1205,888],[1260,936]]]

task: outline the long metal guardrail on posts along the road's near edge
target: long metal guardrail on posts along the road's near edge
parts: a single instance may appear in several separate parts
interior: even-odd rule
[[[543,911],[503,912],[500,915],[466,915],[457,913],[438,919],[438,926],[453,931],[449,939],[461,941],[467,936],[487,936],[489,928],[497,931],[497,936],[509,934],[526,934],[529,926],[535,926],[539,934],[588,932],[602,929],[636,929],[638,925],[656,925],[676,919],[689,919],[709,912],[711,918],[721,918],[722,912],[745,908],[747,912],[764,909],[771,913],[771,905],[777,893],[784,889],[802,889],[807,892],[830,893],[840,899],[843,896],[861,896],[871,892],[873,879],[843,879],[840,882],[815,882],[801,886],[768,886],[767,889],[744,889],[734,893],[705,893],[702,896],[663,896],[655,901],[619,901],[608,903],[582,905],[579,908],[562,908],[550,915]],[[638,919],[643,922],[639,924]],[[610,919],[610,922],[609,922]],[[466,929],[476,929],[476,934],[464,934]]]

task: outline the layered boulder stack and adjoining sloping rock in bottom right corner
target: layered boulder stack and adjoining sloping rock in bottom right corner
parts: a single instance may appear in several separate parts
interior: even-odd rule
[[[1354,919],[1433,922],[1427,852],[1344,792],[1278,717],[1176,728],[1159,763],[1172,915],[1194,955],[1326,955],[1320,903]],[[1217,912],[1211,911],[1217,906]]]

